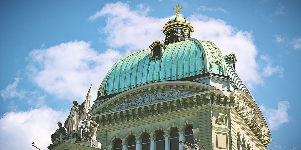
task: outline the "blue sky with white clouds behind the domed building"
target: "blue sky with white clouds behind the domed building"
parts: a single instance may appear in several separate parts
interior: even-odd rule
[[[233,51],[237,73],[269,125],[269,150],[301,148],[300,1],[1,1],[0,149],[46,149],[73,100],[92,99],[108,69],[163,39],[175,15],[193,38]],[[45,131],[43,135],[41,131]],[[21,141],[6,141],[6,136]]]

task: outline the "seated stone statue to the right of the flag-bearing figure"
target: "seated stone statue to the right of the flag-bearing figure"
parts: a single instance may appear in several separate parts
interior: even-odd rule
[[[87,120],[82,125],[82,136],[85,138],[95,138],[97,136],[97,128],[99,126],[98,123],[91,120],[92,116],[90,114],[87,115]]]

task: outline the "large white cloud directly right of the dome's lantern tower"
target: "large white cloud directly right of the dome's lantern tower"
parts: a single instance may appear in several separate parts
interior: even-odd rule
[[[263,82],[256,63],[257,48],[251,32],[237,30],[223,20],[200,14],[188,17],[188,20],[195,28],[193,38],[214,42],[223,55],[234,52],[237,74],[249,88]]]

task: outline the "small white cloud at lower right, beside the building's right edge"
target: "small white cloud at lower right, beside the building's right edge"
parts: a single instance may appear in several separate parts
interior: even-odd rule
[[[277,130],[283,123],[288,123],[290,118],[288,116],[288,108],[290,103],[288,101],[281,101],[277,104],[277,109],[261,105],[261,112],[265,116],[270,130]]]

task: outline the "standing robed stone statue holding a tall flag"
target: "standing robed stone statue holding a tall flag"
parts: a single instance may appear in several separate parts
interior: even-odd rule
[[[86,120],[87,117],[88,109],[90,107],[91,87],[87,93],[86,100],[81,105],[77,106],[77,101],[73,101],[74,106],[71,107],[70,114],[64,123],[64,126],[67,129],[67,136],[81,134],[80,121]]]

